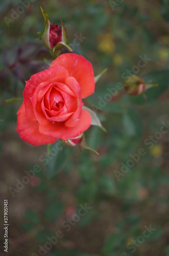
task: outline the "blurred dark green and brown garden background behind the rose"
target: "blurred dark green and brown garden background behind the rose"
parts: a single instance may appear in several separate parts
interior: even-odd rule
[[[19,9],[23,2],[0,4],[1,101],[22,97],[25,80],[52,61],[42,42],[35,40],[43,28],[39,3],[27,0],[27,8]],[[49,156],[47,165],[40,161],[46,146],[29,145],[16,132],[21,102],[1,103],[1,255],[42,255],[39,245],[44,247],[47,237],[61,230],[63,238],[43,255],[168,256],[168,132],[151,148],[144,140],[150,142],[149,136],[160,132],[168,120],[169,1],[40,0],[40,4],[51,22],[60,24],[60,14],[69,45],[81,34],[75,52],[92,63],[95,75],[108,68],[95,94],[85,99],[89,108],[104,99],[107,88],[124,82],[122,75],[137,66],[140,55],[151,60],[137,75],[159,87],[150,89],[146,99],[125,94],[97,111],[107,133],[90,127],[86,141],[101,156],[80,152],[78,146],[63,147],[55,157]],[[115,171],[121,172],[122,162],[126,164],[139,148],[146,154],[117,179]],[[42,170],[12,196],[9,188],[16,189],[25,170],[35,165]],[[5,254],[4,199],[9,203]],[[85,204],[91,209],[76,219]],[[78,220],[68,231],[63,227],[67,218]],[[154,231],[145,238],[146,226]]]

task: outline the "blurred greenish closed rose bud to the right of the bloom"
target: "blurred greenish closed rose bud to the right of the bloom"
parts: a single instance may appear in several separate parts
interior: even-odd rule
[[[127,80],[128,79],[129,78],[127,78]],[[131,75],[130,80],[129,81],[127,80],[124,83],[124,88],[125,88],[125,91],[130,95],[143,94],[148,89],[158,86],[158,84],[148,84],[136,75]]]

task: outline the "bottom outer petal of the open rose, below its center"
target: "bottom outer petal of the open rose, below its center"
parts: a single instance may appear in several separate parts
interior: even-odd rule
[[[39,131],[47,136],[67,140],[68,138],[75,138],[85,132],[89,128],[91,120],[90,114],[82,109],[81,117],[75,127],[66,127],[61,122],[52,123],[49,121],[48,125],[39,124]]]

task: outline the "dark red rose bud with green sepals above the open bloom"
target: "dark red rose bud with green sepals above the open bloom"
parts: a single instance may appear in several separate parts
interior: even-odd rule
[[[59,16],[61,26],[52,24],[50,23],[49,16],[43,11],[41,6],[40,9],[44,17],[44,27],[43,31],[38,32],[38,34],[42,34],[43,45],[53,52],[60,51],[63,47],[67,47],[72,52],[71,48],[66,44],[67,34],[61,17]]]

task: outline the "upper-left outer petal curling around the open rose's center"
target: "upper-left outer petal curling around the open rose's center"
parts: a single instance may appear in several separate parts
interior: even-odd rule
[[[30,98],[33,96],[37,86],[44,82],[44,86],[49,82],[65,82],[68,77],[68,72],[64,67],[56,66],[43,70],[31,76],[30,80],[26,81],[26,87],[23,90],[23,101],[25,103],[25,109],[27,116],[30,120],[35,121],[32,102]]]

